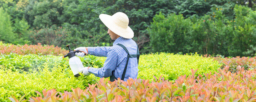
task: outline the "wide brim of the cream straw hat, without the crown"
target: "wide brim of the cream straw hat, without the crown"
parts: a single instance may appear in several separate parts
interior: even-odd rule
[[[103,22],[103,24],[108,27],[108,29],[110,29],[112,32],[116,33],[117,35],[127,39],[133,38],[134,33],[129,26],[126,29],[117,26],[113,22],[113,18],[107,14],[100,14],[99,18]]]

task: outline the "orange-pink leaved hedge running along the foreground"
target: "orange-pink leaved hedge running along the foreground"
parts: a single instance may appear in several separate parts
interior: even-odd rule
[[[219,69],[214,75],[204,74],[206,77],[195,76],[197,70],[191,69],[190,76],[180,76],[175,82],[162,77],[155,80],[129,79],[124,82],[120,79],[114,82],[101,78],[96,84],[86,89],[72,89],[73,92],[58,92],[55,89],[36,91],[38,97],[31,97],[30,102],[95,102],[95,101],[131,101],[131,102],[171,102],[171,101],[230,101],[252,102],[256,99],[255,82],[256,70],[245,71],[238,66],[236,73],[228,71],[228,67]],[[19,98],[10,98],[19,102]],[[16,100],[16,101],[15,101]],[[22,100],[22,98],[20,99]]]

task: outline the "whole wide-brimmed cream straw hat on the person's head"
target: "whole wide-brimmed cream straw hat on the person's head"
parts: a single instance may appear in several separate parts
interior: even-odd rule
[[[112,32],[127,39],[133,38],[134,33],[128,26],[129,18],[123,12],[116,12],[112,16],[107,14],[100,14],[99,17],[104,25],[106,25]]]

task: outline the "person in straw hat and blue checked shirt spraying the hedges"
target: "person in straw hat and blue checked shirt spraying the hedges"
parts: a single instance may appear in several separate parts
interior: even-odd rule
[[[140,54],[137,43],[132,40],[134,33],[128,26],[128,16],[123,12],[116,12],[112,16],[100,14],[99,18],[108,27],[110,38],[115,41],[111,47],[78,47],[74,49],[82,51],[76,53],[81,57],[87,54],[107,57],[102,68],[84,67],[80,71],[85,76],[92,73],[100,78],[110,77],[111,82],[117,78],[124,81],[129,78],[137,78]]]

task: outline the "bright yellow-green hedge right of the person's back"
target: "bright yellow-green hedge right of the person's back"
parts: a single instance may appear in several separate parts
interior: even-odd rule
[[[198,74],[214,72],[221,64],[213,58],[204,58],[198,54],[194,55],[174,55],[170,53],[156,53],[141,55],[139,60],[138,78],[154,79],[153,76],[165,79],[176,80],[181,75],[191,75],[190,69],[198,69]]]

